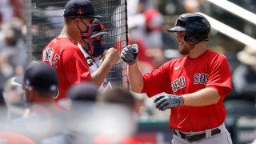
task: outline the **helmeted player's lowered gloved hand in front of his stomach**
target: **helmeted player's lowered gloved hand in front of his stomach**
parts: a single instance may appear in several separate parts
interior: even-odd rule
[[[172,107],[182,106],[183,98],[182,96],[173,95],[173,94],[164,94],[159,95],[154,99],[155,108],[158,110],[167,110]]]

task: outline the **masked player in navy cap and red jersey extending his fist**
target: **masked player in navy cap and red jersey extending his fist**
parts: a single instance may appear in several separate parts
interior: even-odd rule
[[[75,83],[92,81],[100,86],[110,68],[118,62],[118,58],[111,59],[113,54],[118,54],[117,50],[112,48],[98,74],[91,77],[86,58],[78,48],[78,42],[91,34],[94,18],[103,17],[95,15],[94,6],[89,0],[70,0],[66,3],[63,15],[64,27],[61,34],[42,50],[42,62],[53,66],[58,73],[57,100],[66,98],[66,91]]]

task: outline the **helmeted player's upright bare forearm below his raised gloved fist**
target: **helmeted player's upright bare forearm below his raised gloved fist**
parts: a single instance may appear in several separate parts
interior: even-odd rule
[[[142,72],[138,69],[137,62],[135,62],[134,65],[128,65],[128,79],[131,90],[133,90],[135,93],[141,93],[144,82]]]

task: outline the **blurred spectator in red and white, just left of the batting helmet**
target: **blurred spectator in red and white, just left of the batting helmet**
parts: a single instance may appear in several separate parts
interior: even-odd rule
[[[148,55],[148,57],[151,58],[151,60],[154,62],[154,65],[156,66],[161,66],[164,62],[166,62],[162,50],[163,22],[164,19],[162,17],[162,14],[156,9],[144,10],[142,14],[133,16],[130,21],[131,37],[133,37],[134,39],[140,39],[138,41],[141,41],[142,44],[145,45],[146,54]]]

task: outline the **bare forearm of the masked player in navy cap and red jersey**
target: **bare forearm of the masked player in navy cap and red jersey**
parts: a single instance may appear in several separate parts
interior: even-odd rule
[[[110,63],[102,62],[102,65],[98,67],[98,70],[91,74],[92,82],[94,82],[97,86],[101,86],[107,74],[109,74],[112,66],[113,65]]]

